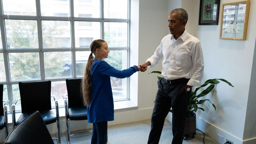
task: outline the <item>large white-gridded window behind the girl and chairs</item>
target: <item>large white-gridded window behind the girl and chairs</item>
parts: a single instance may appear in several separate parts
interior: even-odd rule
[[[4,84],[4,100],[11,103],[20,98],[20,81],[50,80],[52,95],[63,106],[65,79],[83,77],[91,53],[89,46],[95,39],[108,42],[110,53],[105,60],[110,65],[119,70],[128,68],[129,0],[104,0],[104,7],[102,0],[36,2],[39,4],[35,0],[2,0],[0,6],[0,83]],[[128,78],[111,77],[114,100],[129,99],[128,83]],[[21,110],[20,101],[16,110]]]

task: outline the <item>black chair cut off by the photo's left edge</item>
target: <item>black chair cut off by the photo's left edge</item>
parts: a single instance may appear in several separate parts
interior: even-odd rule
[[[8,136],[8,118],[7,118],[7,105],[9,100],[5,101],[3,105],[3,92],[4,85],[0,84],[0,130],[5,128],[5,138]]]

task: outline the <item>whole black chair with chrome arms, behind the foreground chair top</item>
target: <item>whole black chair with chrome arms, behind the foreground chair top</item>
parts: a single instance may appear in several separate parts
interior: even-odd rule
[[[51,107],[51,81],[35,81],[35,82],[19,82],[21,115],[16,122],[15,105],[18,100],[15,100],[12,105],[13,128],[20,124],[25,118],[35,111],[39,111],[45,124],[57,122],[58,140],[61,143],[61,133],[59,124],[59,106],[56,97],[54,96],[56,116]]]

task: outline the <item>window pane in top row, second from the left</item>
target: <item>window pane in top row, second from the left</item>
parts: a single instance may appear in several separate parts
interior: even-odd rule
[[[40,0],[42,16],[69,17],[69,0]],[[54,15],[56,13],[65,13],[63,15]]]

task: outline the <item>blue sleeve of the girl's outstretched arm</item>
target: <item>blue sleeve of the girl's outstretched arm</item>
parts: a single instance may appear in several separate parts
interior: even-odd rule
[[[112,76],[115,78],[128,78],[138,71],[138,67],[134,65],[125,70],[117,70],[113,66],[109,65],[106,61],[101,61],[98,65],[98,71],[106,76]]]

